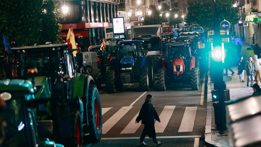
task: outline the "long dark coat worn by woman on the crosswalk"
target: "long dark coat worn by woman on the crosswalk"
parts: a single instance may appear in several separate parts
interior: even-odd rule
[[[151,103],[143,104],[136,121],[141,121],[141,124],[144,124],[143,131],[145,131],[150,138],[156,137],[154,119],[157,121],[160,120],[154,106]]]

